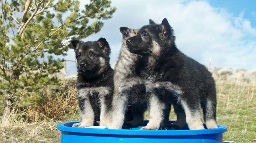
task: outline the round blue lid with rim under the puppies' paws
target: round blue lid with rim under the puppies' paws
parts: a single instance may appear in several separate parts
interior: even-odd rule
[[[147,122],[147,121],[146,121]],[[103,135],[151,135],[151,136],[184,136],[184,135],[206,135],[218,134],[227,131],[224,125],[218,125],[216,129],[201,129],[201,130],[140,130],[141,127],[131,129],[93,129],[93,128],[78,128],[72,127],[74,123],[66,122],[57,124],[57,129],[62,132],[70,133],[89,133],[89,134],[103,134]]]

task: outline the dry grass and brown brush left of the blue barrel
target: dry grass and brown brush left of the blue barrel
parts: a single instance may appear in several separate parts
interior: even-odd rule
[[[0,127],[0,142],[59,142],[57,123],[78,120],[76,88],[66,81],[58,90],[47,88],[40,104],[14,107],[9,122]]]

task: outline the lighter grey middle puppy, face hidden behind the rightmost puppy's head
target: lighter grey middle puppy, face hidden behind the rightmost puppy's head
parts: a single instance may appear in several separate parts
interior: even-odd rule
[[[138,30],[120,28],[123,45],[114,69],[113,121],[109,129],[136,127],[143,124],[146,105],[146,88],[140,78],[141,55],[130,53],[126,40],[135,36]],[[127,110],[128,108],[128,110]]]

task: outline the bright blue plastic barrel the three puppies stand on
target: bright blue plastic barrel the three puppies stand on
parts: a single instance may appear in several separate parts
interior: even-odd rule
[[[172,123],[173,121],[170,121]],[[222,143],[222,133],[227,127],[217,129],[189,130],[140,130],[132,129],[93,129],[72,127],[74,123],[59,123],[61,143]],[[144,121],[146,125],[148,121]]]

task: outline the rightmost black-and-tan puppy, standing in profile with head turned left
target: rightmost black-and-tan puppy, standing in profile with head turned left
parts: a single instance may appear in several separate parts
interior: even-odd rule
[[[161,25],[150,20],[150,25],[126,40],[131,53],[147,59],[141,75],[149,93],[149,123],[142,129],[159,129],[171,104],[168,100],[182,106],[189,129],[204,129],[200,106],[206,127],[217,128],[214,79],[204,65],[177,49],[174,41],[166,18]]]

